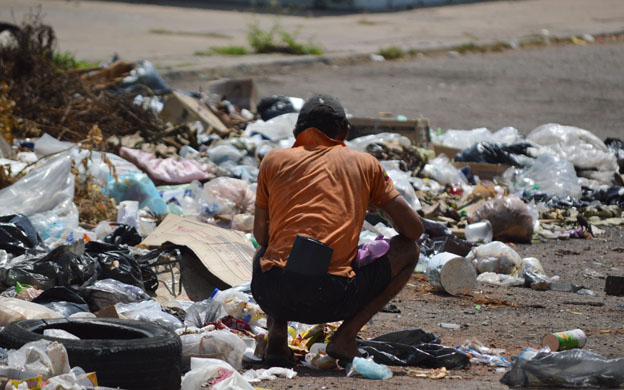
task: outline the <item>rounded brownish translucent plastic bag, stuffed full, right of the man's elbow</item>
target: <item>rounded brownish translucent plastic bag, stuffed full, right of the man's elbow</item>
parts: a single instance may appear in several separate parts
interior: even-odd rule
[[[487,219],[492,224],[494,240],[531,242],[533,217],[522,200],[515,195],[497,196],[479,207],[470,222]]]

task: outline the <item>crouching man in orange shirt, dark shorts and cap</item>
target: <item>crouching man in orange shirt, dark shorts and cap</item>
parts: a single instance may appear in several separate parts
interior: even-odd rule
[[[269,365],[292,364],[288,321],[343,320],[327,353],[343,361],[359,356],[357,333],[401,291],[418,262],[418,214],[373,156],[345,146],[348,131],[340,103],[314,96],[299,113],[293,147],[270,151],[260,166],[254,222],[260,247],[251,289],[268,317]],[[384,256],[358,268],[354,260],[369,207],[383,210],[399,235]],[[297,235],[313,239],[307,240],[312,246],[291,256]],[[289,261],[298,263],[296,271]]]

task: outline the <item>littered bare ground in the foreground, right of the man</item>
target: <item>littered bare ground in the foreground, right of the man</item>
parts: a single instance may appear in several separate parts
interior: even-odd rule
[[[393,303],[400,314],[378,313],[362,338],[372,338],[402,329],[421,328],[433,332],[442,344],[456,347],[477,339],[489,347],[504,348],[509,359],[527,347],[539,348],[551,332],[580,328],[587,334],[585,349],[607,358],[621,357],[624,345],[624,298],[604,293],[605,275],[624,274],[623,230],[610,228],[593,240],[566,240],[517,245],[522,257],[537,257],[548,275],[582,285],[594,297],[557,291],[534,291],[522,287],[479,284],[469,295],[453,297],[434,292],[422,275],[414,275]],[[590,276],[591,275],[591,276]],[[476,305],[480,308],[477,309]],[[460,325],[441,328],[439,323]],[[407,375],[408,368],[392,367],[394,376],[384,381],[347,378],[344,370],[315,371],[299,366],[295,379],[263,382],[267,389],[504,389],[503,373],[484,365],[452,370],[461,379],[422,379]]]

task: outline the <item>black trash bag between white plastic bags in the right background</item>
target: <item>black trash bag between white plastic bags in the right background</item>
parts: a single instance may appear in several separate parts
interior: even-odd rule
[[[526,150],[530,146],[531,144],[529,143],[501,145],[490,142],[478,142],[457,153],[454,160],[522,166],[516,155],[526,154]]]

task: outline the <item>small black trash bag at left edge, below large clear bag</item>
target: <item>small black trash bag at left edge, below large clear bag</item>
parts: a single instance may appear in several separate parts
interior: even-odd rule
[[[0,217],[0,249],[19,256],[38,244],[37,231],[28,217],[21,214]]]

